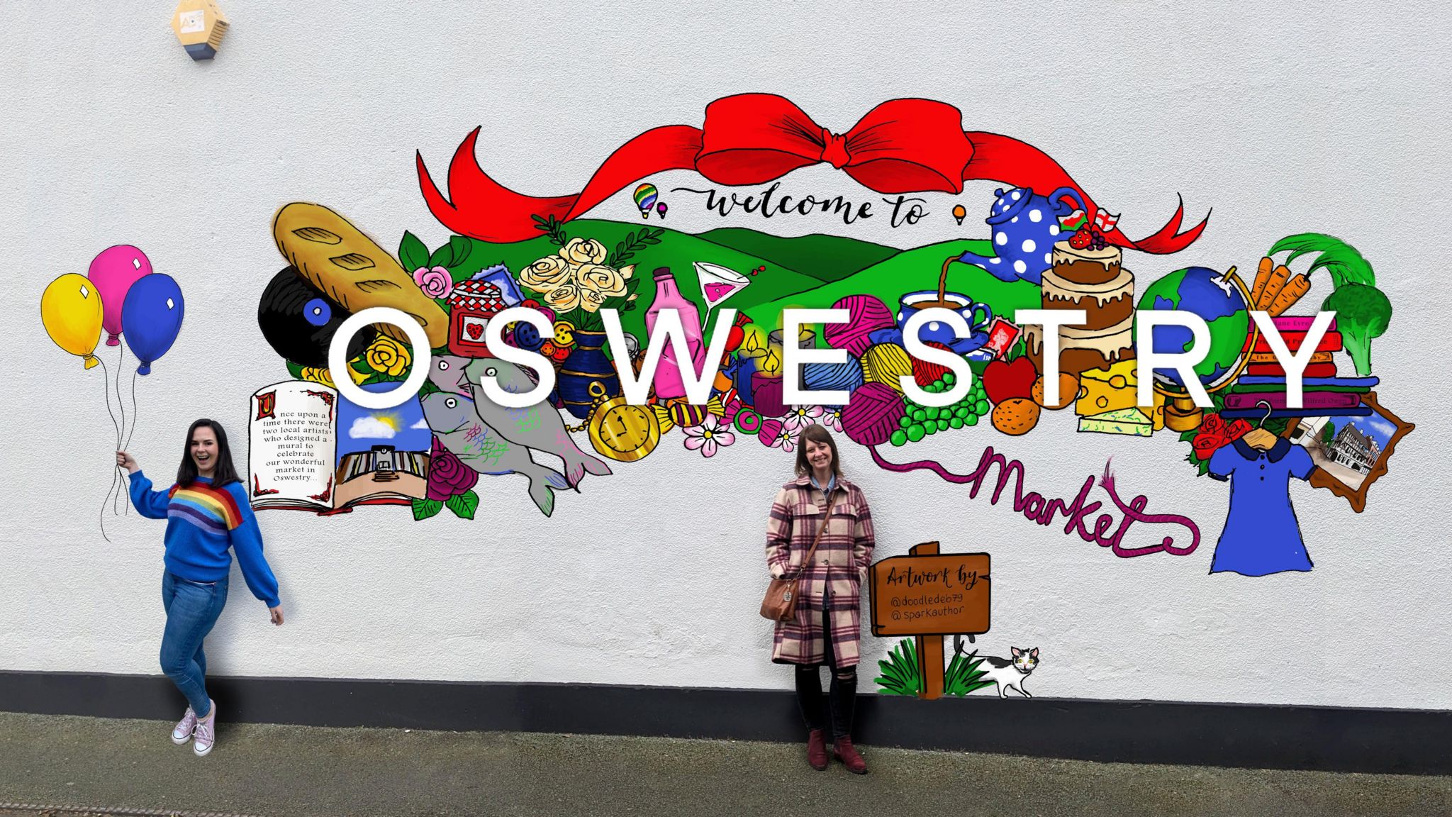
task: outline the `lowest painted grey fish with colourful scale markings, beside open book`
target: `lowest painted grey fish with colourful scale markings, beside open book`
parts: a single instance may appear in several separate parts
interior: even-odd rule
[[[424,419],[439,442],[460,462],[485,475],[523,474],[530,480],[530,499],[549,516],[555,512],[555,490],[568,488],[565,475],[530,458],[530,449],[511,443],[479,420],[473,400],[462,394],[434,393],[423,398]]]

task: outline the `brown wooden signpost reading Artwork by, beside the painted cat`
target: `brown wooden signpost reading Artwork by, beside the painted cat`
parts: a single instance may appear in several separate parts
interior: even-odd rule
[[[989,631],[989,554],[939,554],[938,542],[873,564],[873,635],[918,641],[919,698],[942,696],[942,637]]]

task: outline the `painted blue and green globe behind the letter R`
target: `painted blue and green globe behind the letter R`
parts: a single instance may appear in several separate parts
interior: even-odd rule
[[[1233,269],[1224,275],[1204,266],[1178,269],[1144,288],[1140,308],[1183,310],[1205,321],[1210,327],[1210,352],[1195,365],[1195,375],[1207,391],[1221,385],[1225,375],[1240,363],[1250,334],[1250,311],[1243,285],[1234,278]],[[1194,337],[1183,326],[1156,326],[1151,334],[1150,349],[1166,353],[1185,352]],[[1137,349],[1143,343],[1138,324],[1134,343]],[[1175,369],[1154,369],[1154,382],[1167,390],[1185,390]]]

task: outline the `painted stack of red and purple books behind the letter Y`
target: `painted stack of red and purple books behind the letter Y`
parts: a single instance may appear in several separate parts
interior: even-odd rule
[[[1311,329],[1311,315],[1285,315],[1272,318],[1286,347],[1300,353],[1305,333]],[[1246,374],[1236,381],[1225,395],[1225,407],[1220,416],[1225,420],[1260,420],[1269,410],[1270,417],[1366,417],[1371,407],[1362,404],[1362,394],[1375,388],[1376,378],[1339,378],[1331,352],[1342,350],[1342,334],[1336,321],[1316,345],[1310,365],[1301,374],[1301,407],[1289,408],[1285,394],[1285,369],[1270,353],[1265,337],[1257,337],[1250,349],[1250,363]]]

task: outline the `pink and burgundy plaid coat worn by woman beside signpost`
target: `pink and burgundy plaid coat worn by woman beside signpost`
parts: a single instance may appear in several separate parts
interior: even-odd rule
[[[817,542],[812,564],[802,570],[794,621],[778,621],[771,660],[778,664],[820,664],[822,606],[828,605],[832,650],[839,667],[858,661],[861,586],[873,561],[873,515],[861,488],[838,477],[832,490],[832,519]],[[826,496],[810,477],[781,486],[767,518],[767,567],[772,576],[793,574],[812,550],[826,512]]]

